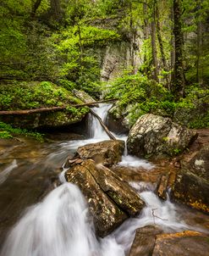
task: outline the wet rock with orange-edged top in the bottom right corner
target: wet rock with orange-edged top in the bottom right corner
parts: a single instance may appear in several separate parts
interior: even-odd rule
[[[157,235],[152,256],[206,256],[209,237],[197,231]],[[145,254],[150,255],[150,254]]]

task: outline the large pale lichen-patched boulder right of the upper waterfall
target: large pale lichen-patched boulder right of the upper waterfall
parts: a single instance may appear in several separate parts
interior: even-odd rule
[[[182,152],[197,134],[156,114],[144,114],[129,131],[128,152],[136,156],[172,156]]]

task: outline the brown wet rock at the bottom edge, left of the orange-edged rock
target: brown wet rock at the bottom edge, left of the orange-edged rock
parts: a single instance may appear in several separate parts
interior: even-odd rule
[[[153,225],[137,229],[129,256],[150,256],[155,246],[156,235],[161,233],[160,227]]]

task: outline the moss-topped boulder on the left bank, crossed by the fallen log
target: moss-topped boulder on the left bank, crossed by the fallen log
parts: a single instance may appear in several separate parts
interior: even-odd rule
[[[34,129],[67,126],[80,122],[89,110],[76,109],[72,106],[78,103],[82,103],[80,98],[49,81],[10,82],[0,85],[0,110],[67,106],[60,111],[0,116],[1,121],[14,127]]]

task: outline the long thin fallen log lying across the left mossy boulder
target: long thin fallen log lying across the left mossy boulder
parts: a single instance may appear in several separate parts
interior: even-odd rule
[[[90,107],[95,107],[96,104],[98,103],[108,103],[108,102],[113,102],[117,101],[117,98],[114,99],[107,99],[107,100],[101,100],[97,102],[92,102],[92,103],[81,103],[81,104],[73,104],[70,105],[72,108],[80,108],[80,107],[85,107],[85,106],[90,106]],[[5,110],[5,111],[0,111],[0,115],[12,115],[12,114],[33,114],[33,113],[43,113],[43,112],[50,112],[50,111],[61,111],[64,109],[67,109],[69,106],[62,106],[62,107],[50,107],[50,108],[40,108],[40,109],[25,109],[25,110]]]

